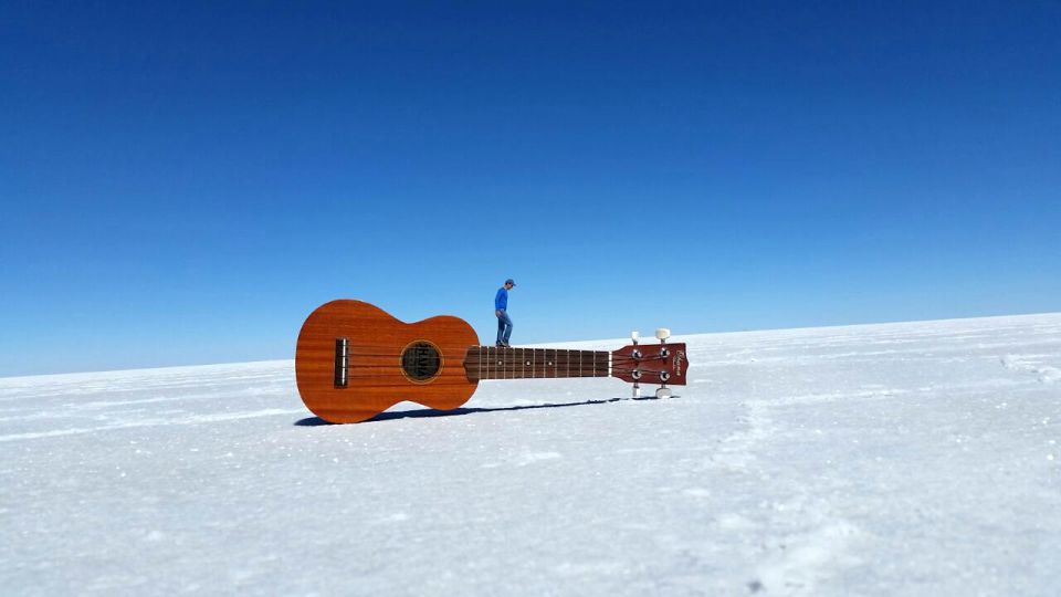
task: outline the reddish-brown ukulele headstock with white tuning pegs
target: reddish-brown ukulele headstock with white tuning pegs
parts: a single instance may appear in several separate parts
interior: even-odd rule
[[[666,386],[684,386],[689,358],[685,356],[685,343],[670,343],[666,339],[671,331],[661,327],[655,331],[659,344],[640,344],[637,332],[630,334],[633,344],[611,353],[611,376],[633,384],[633,396],[640,395],[641,384],[659,384],[656,398],[671,395]]]

